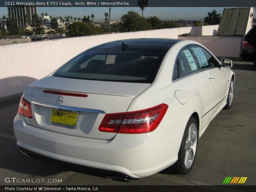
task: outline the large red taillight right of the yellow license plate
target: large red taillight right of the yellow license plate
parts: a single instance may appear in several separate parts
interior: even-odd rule
[[[161,104],[152,108],[127,113],[106,114],[99,126],[101,132],[147,133],[154,131],[168,109]]]

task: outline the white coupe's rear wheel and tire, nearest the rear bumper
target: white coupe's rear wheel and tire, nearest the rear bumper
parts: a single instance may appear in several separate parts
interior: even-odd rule
[[[191,116],[182,137],[177,162],[170,167],[174,174],[188,174],[194,163],[198,143],[198,125],[196,119]]]

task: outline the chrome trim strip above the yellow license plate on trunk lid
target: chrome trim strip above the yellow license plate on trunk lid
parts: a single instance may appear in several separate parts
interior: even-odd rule
[[[69,107],[69,106],[64,106],[64,105],[56,105],[56,104],[43,103],[43,102],[38,102],[38,101],[32,101],[31,103],[36,104],[36,105],[41,105],[41,106],[44,106],[44,107],[59,108],[59,109],[66,109],[66,110],[72,110],[72,111],[83,111],[83,112],[87,112],[87,113],[106,114],[105,111],[97,110],[97,109]]]

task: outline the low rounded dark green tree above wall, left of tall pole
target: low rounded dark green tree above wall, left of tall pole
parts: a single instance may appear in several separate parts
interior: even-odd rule
[[[70,36],[87,36],[97,34],[96,30],[85,22],[76,22],[69,25]]]

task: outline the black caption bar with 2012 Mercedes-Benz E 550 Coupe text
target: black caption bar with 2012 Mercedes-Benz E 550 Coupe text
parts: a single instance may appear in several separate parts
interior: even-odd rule
[[[47,3],[48,2],[48,3]],[[1,0],[0,7],[138,7],[137,0]],[[255,0],[148,0],[148,7],[256,7]]]

